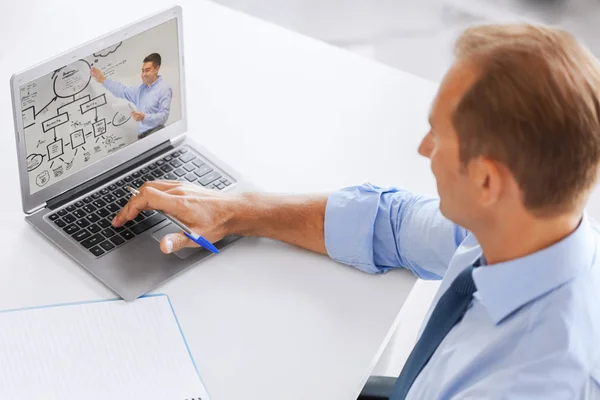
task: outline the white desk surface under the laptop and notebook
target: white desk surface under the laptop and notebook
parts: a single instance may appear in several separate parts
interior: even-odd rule
[[[161,3],[105,0],[93,15],[90,2],[3,3],[0,309],[114,297],[23,220],[10,75]],[[416,149],[436,85],[212,3],[181,5],[197,141],[270,191],[369,180],[435,193]],[[366,381],[414,281],[247,239],[157,291],[171,297],[215,400],[345,400]]]

